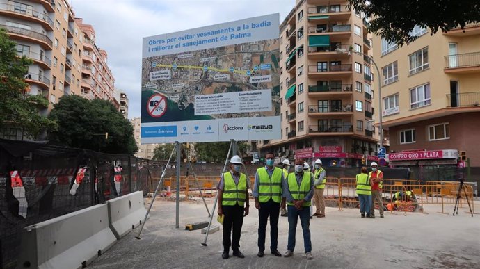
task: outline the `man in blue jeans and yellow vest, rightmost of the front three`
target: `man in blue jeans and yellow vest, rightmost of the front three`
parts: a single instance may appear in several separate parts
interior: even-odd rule
[[[303,230],[303,245],[305,247],[306,258],[311,260],[312,257],[312,241],[310,239],[310,205],[313,196],[313,180],[311,172],[304,172],[303,160],[295,159],[295,172],[288,175],[285,180],[284,193],[288,204],[288,245],[285,257],[294,254],[296,225],[298,217]]]

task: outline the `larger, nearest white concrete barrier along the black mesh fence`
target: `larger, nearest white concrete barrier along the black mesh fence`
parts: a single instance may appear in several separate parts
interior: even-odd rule
[[[117,239],[106,204],[25,227],[17,268],[82,268]]]

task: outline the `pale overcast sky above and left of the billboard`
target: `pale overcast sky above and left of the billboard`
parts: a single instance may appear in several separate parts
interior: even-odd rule
[[[109,54],[115,88],[129,98],[129,118],[140,117],[142,38],[280,13],[295,0],[68,0],[75,17],[92,24],[97,47]]]

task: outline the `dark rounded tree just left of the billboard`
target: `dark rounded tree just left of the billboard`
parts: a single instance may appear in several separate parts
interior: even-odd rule
[[[134,127],[109,101],[63,96],[49,118],[59,125],[57,131],[49,133],[52,142],[111,154],[138,151]]]

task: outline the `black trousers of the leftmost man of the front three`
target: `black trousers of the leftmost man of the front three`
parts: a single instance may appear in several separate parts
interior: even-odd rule
[[[240,233],[241,225],[243,225],[243,206],[238,204],[234,206],[222,206],[223,214],[223,249],[229,250],[230,245],[232,250],[239,250],[240,247]],[[230,241],[230,234],[233,235]]]

